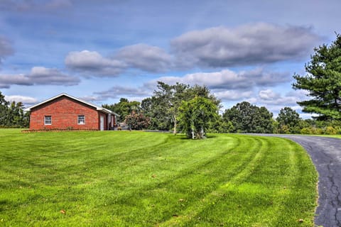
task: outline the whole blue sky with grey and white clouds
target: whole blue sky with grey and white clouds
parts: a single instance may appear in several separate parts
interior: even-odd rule
[[[60,93],[142,101],[158,81],[205,85],[221,113],[241,101],[274,116],[314,48],[341,33],[340,0],[0,0],[0,92],[28,107]]]

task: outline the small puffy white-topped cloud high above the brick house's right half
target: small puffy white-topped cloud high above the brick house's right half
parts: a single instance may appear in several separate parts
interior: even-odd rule
[[[65,57],[65,65],[94,77],[117,76],[126,68],[124,62],[102,57],[98,52],[89,50],[69,52]]]

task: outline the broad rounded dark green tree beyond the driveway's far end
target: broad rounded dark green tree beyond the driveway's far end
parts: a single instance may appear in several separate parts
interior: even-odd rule
[[[237,133],[273,133],[273,114],[265,107],[251,105],[247,101],[227,109],[224,121],[231,121]]]

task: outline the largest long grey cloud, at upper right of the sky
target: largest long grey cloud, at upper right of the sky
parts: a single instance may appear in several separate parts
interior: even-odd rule
[[[320,43],[309,28],[254,23],[190,31],[171,41],[173,52],[193,66],[229,67],[306,57]]]

